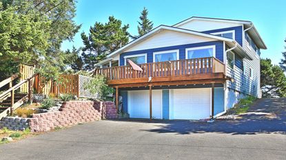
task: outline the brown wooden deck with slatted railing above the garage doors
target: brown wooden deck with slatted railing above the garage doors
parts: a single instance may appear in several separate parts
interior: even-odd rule
[[[131,66],[96,69],[96,75],[108,78],[111,87],[146,87],[182,84],[223,83],[225,65],[214,57],[151,62],[139,65],[143,71]]]

